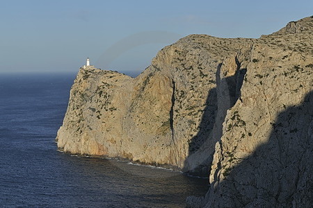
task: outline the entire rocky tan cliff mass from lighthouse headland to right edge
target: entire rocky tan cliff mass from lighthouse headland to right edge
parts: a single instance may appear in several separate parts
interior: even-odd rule
[[[58,148],[210,173],[191,207],[309,205],[312,28],[307,17],[259,39],[188,35],[136,78],[80,69]]]

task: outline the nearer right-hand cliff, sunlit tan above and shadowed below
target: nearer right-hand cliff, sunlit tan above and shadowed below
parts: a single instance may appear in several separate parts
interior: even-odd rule
[[[313,204],[313,18],[252,44],[241,96],[227,111],[205,198],[190,207]]]

